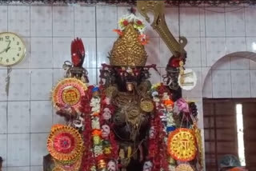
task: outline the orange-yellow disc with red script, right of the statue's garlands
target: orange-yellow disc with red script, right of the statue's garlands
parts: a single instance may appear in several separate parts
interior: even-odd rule
[[[174,130],[168,137],[168,153],[178,161],[192,161],[196,155],[196,141],[190,129]]]

